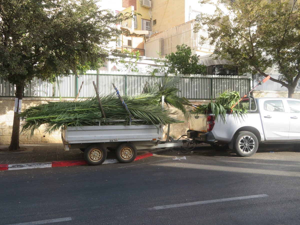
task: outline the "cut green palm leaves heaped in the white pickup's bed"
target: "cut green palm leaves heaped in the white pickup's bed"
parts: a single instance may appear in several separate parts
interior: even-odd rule
[[[196,114],[208,114],[212,113],[215,115],[216,119],[218,115],[221,115],[225,120],[226,113],[231,113],[234,116],[243,116],[247,113],[247,108],[242,104],[237,104],[231,109],[240,100],[240,94],[238,91],[224,91],[219,93],[215,101],[211,100],[208,104],[201,104],[198,107],[193,109],[193,113]]]

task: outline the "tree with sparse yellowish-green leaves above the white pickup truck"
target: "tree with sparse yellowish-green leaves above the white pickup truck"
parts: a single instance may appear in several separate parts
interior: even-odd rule
[[[232,61],[241,73],[260,73],[275,67],[281,76],[270,80],[280,83],[293,97],[300,78],[300,16],[296,0],[202,0],[211,4],[213,15],[201,13],[196,29],[208,31],[209,41],[215,45],[214,54]],[[223,3],[223,4],[222,4]]]

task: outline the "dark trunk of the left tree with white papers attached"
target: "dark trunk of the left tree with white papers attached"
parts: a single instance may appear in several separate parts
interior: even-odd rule
[[[16,98],[15,98],[15,110],[13,117],[13,132],[11,135],[10,146],[8,150],[13,151],[20,148],[19,146],[19,136],[20,136],[20,118],[19,112],[21,112],[22,99],[23,99],[23,85],[16,86]],[[21,100],[21,101],[20,101]]]

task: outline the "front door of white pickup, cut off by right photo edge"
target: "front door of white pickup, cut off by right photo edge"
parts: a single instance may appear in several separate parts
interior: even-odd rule
[[[289,139],[300,139],[300,101],[287,100],[289,106]]]

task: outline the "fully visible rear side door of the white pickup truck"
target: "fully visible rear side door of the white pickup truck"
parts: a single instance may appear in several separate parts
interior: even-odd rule
[[[263,101],[263,99],[262,99]],[[281,100],[266,100],[260,104],[262,127],[265,139],[285,140],[289,138],[289,113],[284,111]]]

